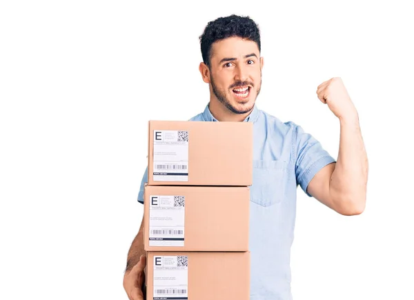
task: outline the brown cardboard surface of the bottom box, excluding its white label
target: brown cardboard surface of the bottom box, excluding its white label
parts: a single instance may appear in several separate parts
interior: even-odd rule
[[[163,255],[188,257],[188,300],[250,299],[250,252],[147,252],[147,300],[154,294],[155,257]]]

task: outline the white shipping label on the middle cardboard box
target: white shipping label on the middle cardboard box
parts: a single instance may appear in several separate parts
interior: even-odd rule
[[[150,246],[184,246],[184,196],[150,195]]]

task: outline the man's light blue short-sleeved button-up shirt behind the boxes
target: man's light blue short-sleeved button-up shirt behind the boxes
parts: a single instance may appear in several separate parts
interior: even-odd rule
[[[208,105],[189,121],[217,121]],[[306,194],[309,181],[335,162],[311,134],[295,123],[283,123],[259,110],[253,122],[253,185],[250,186],[250,300],[289,300],[290,246],[296,216],[296,191]],[[144,172],[138,201],[143,203]],[[311,197],[311,194],[308,194]]]

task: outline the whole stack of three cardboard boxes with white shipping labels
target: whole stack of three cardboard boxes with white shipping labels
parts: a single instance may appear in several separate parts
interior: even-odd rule
[[[248,300],[253,124],[150,121],[146,299]]]

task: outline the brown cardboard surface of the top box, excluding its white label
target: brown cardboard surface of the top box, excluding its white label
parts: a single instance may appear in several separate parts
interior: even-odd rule
[[[251,186],[253,184],[253,123],[149,121],[148,130],[148,184],[150,186]],[[188,131],[188,181],[154,181],[154,130]]]

